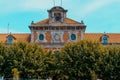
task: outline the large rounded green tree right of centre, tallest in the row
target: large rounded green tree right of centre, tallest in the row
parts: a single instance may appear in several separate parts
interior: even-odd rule
[[[104,53],[104,48],[97,42],[79,41],[66,44],[60,54],[57,54],[56,78],[96,79],[98,65],[102,61],[101,53]]]

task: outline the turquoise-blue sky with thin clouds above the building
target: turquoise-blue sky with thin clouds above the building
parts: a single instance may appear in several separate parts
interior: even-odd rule
[[[53,6],[53,0],[0,0],[0,33],[30,33],[31,21],[48,18]],[[62,7],[68,18],[84,21],[87,33],[120,33],[120,0],[62,0]]]

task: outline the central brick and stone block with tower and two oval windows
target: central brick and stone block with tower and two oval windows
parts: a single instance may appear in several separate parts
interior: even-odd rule
[[[66,17],[67,10],[56,6],[48,10],[49,18],[29,26],[31,42],[45,48],[61,48],[64,43],[82,40],[86,26]]]

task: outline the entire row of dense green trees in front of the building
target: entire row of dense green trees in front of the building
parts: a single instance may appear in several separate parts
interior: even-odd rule
[[[92,41],[67,43],[58,51],[34,43],[0,43],[0,75],[53,80],[119,80],[120,46]]]

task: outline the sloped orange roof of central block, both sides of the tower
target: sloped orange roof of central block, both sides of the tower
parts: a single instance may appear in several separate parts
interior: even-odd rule
[[[70,18],[65,18],[66,24],[81,24],[80,22],[77,22],[75,20],[72,20]],[[42,21],[39,21],[37,23],[34,23],[35,25],[41,25],[41,24],[49,24],[49,19],[44,19]]]

